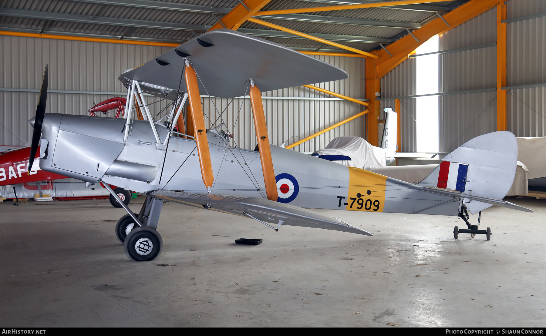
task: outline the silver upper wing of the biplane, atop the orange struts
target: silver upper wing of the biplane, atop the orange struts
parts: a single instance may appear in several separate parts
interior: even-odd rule
[[[180,91],[187,91],[181,80],[184,58],[192,62],[199,76],[199,92],[222,98],[244,95],[243,86],[249,78],[265,92],[349,76],[334,65],[280,44],[216,29],[124,72],[119,79],[123,84],[138,80],[145,92],[176,99],[179,87]],[[171,94],[172,91],[176,93]]]

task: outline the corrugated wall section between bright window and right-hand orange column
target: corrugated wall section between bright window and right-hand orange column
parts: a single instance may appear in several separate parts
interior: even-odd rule
[[[491,9],[440,35],[440,50],[496,41],[497,11]],[[440,54],[440,92],[496,86],[496,46]],[[440,151],[451,152],[466,141],[496,130],[496,93],[442,95]]]

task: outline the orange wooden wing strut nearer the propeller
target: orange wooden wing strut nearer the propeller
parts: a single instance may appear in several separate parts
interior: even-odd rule
[[[206,136],[205,119],[201,109],[201,97],[199,95],[199,86],[197,83],[197,74],[186,60],[186,69],[184,79],[188,90],[189,106],[191,106],[191,115],[193,119],[193,128],[195,130],[195,141],[197,142],[197,152],[199,154],[199,164],[201,165],[201,176],[207,190],[212,189],[214,175],[212,173],[212,164],[210,161],[209,141]]]

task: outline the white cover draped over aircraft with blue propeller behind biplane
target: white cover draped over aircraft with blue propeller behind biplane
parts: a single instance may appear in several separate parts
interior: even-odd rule
[[[370,145],[359,136],[340,136],[328,143],[324,149],[315,153],[319,155],[346,155],[351,161],[333,161],[349,167],[369,169],[370,167],[384,167],[387,165],[385,149]]]

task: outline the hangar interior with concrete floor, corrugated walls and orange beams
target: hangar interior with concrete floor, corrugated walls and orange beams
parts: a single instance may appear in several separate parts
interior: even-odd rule
[[[390,108],[399,117],[398,152],[438,154],[395,164],[439,164],[494,131],[546,136],[545,16],[543,0],[1,0],[0,145],[29,146],[45,64],[46,114],[88,116],[101,101],[128,97],[123,71],[223,28],[349,75],[263,92],[272,145],[313,153],[354,136],[380,146]],[[431,69],[436,77],[426,77]],[[201,105],[207,129],[224,124],[231,146],[252,151],[257,133],[242,93],[200,92]],[[169,114],[167,99],[146,99],[156,120]],[[435,109],[419,105],[425,100]],[[541,150],[536,156],[546,159]],[[132,211],[145,198],[134,199]],[[146,262],[124,255],[113,232],[124,212],[104,199],[4,201],[0,326],[544,326],[544,199],[507,200],[534,213],[486,209],[491,241],[454,240],[453,225],[464,224],[457,217],[318,209],[375,236],[283,233],[169,202],[158,229],[164,248]],[[263,243],[233,242],[241,237]]]

